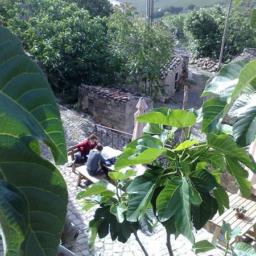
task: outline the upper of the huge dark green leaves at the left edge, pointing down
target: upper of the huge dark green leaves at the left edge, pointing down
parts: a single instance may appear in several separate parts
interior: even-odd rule
[[[0,133],[20,138],[27,146],[42,139],[57,164],[67,162],[60,113],[46,77],[18,38],[1,27],[0,47]]]

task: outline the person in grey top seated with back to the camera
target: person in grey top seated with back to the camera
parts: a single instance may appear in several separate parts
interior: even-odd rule
[[[100,172],[102,171],[100,164],[106,163],[105,158],[101,155],[102,150],[103,146],[101,144],[97,144],[96,148],[90,150],[86,163],[86,168],[89,175],[95,176],[97,174],[100,174]],[[103,171],[106,175],[108,174],[108,171]]]

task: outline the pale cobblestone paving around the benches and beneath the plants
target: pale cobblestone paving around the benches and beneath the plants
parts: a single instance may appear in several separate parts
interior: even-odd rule
[[[61,119],[63,122],[65,135],[67,139],[67,147],[73,146],[78,142],[83,141],[93,131],[93,125],[96,123],[90,115],[79,114],[60,106]],[[105,145],[106,146],[106,145]],[[52,160],[51,153],[46,146],[42,146],[42,156],[48,160]],[[86,232],[89,221],[92,220],[95,208],[88,211],[82,211],[82,205],[76,200],[76,195],[84,189],[84,183],[81,187],[76,188],[77,173],[72,172],[72,168],[59,166],[60,172],[67,182],[69,202],[68,216],[72,222],[79,228],[79,237],[77,238],[76,255],[77,256],[143,256],[144,253],[138,245],[133,234],[126,243],[112,241],[110,235],[103,239],[96,238],[96,243],[93,250],[88,248],[89,233]],[[139,239],[142,241],[150,256],[169,255],[166,247],[166,232],[162,225],[158,225],[154,233],[150,234],[144,231],[138,231]],[[209,240],[212,234],[209,234],[205,229],[199,230],[195,234],[196,241]],[[171,236],[171,245],[175,256],[188,255],[193,256],[192,244],[183,236],[179,236],[176,240]],[[0,256],[3,255],[2,240],[0,240]],[[210,251],[209,254],[203,255],[221,255],[218,251]],[[32,255],[26,255],[32,256]]]

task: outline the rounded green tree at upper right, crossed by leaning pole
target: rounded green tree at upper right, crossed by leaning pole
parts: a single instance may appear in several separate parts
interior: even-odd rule
[[[220,6],[193,10],[189,13],[184,27],[189,39],[189,48],[195,56],[218,57],[225,19],[226,11]],[[232,11],[226,34],[228,43],[224,47],[224,60],[236,56],[245,47],[254,47],[254,34],[247,19],[240,13]]]

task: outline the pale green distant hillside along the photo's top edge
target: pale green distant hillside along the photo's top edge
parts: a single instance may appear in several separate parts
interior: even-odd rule
[[[129,2],[137,8],[139,14],[146,14],[146,0],[119,0],[119,2]],[[226,7],[228,6],[228,2],[228,0],[155,0],[154,7],[156,9],[164,9],[170,6],[175,6],[183,7],[183,9],[185,10],[189,5],[195,5],[196,7],[210,7],[213,5],[221,5],[223,7]]]

